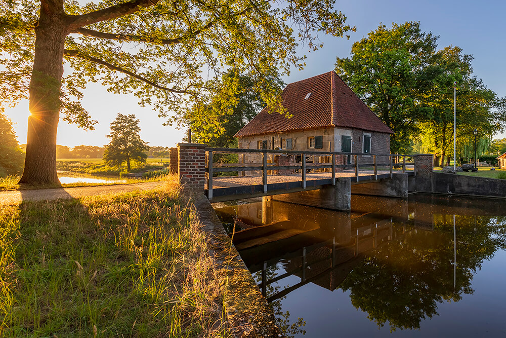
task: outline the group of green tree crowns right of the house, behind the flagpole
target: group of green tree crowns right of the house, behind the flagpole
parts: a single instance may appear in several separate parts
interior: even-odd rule
[[[457,140],[476,128],[491,136],[504,127],[504,100],[473,75],[472,55],[437,49],[438,36],[419,22],[379,26],[338,58],[336,71],[395,133],[392,152],[408,152],[411,139],[441,155],[453,146],[453,83],[457,83]],[[420,147],[420,146],[418,146]]]

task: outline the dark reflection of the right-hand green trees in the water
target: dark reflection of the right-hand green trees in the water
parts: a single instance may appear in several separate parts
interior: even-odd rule
[[[506,247],[506,222],[481,216],[456,216],[456,284],[453,286],[453,215],[435,217],[433,233],[412,230],[402,240],[377,248],[341,284],[368,318],[390,330],[420,327],[437,315],[443,301],[471,294],[473,272],[497,249]]]

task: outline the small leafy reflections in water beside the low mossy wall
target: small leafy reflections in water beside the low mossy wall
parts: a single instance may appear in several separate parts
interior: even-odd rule
[[[278,267],[279,264],[280,263],[267,267],[266,270],[267,280],[276,277],[276,273],[279,270]],[[262,281],[262,271],[258,271],[252,274],[252,276],[258,283]],[[288,285],[286,285],[286,287],[288,287]],[[266,287],[267,296],[278,293],[280,291],[280,288],[281,287],[277,283],[267,285]],[[285,334],[286,337],[293,337],[297,334],[306,334],[306,330],[303,328],[304,326],[306,326],[306,321],[303,318],[299,317],[297,322],[290,324],[290,312],[289,311],[283,312],[281,310],[281,301],[284,298],[286,298],[286,296],[278,298],[270,303],[272,311],[274,312],[274,315],[278,319],[279,328]]]

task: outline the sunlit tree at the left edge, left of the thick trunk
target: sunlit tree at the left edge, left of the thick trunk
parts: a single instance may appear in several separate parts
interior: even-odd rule
[[[0,177],[19,174],[24,159],[12,122],[3,112],[4,108],[0,106]]]

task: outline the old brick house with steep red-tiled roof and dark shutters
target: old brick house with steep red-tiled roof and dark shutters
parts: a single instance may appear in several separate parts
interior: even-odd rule
[[[281,98],[291,118],[264,108],[235,134],[239,148],[390,154],[392,130],[333,70],[288,84]]]

